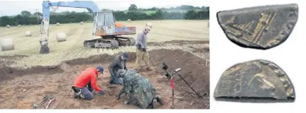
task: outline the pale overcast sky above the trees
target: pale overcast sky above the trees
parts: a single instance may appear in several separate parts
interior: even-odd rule
[[[64,0],[65,1],[65,0]],[[57,1],[51,1],[57,2]],[[108,8],[111,10],[126,10],[131,4],[136,4],[138,8],[170,8],[171,6],[180,5],[191,5],[191,6],[209,6],[209,0],[104,0],[104,1],[94,1],[100,9]],[[21,11],[35,12],[37,8],[39,12],[42,12],[43,1],[0,1],[0,16],[14,16]],[[52,9],[51,9],[52,10]],[[58,8],[55,12],[62,11],[87,11],[84,8]]]

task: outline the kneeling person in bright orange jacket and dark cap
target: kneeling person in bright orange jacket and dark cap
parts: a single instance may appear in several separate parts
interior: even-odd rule
[[[104,91],[97,86],[97,77],[100,73],[103,74],[103,67],[97,66],[97,68],[87,68],[80,76],[77,76],[75,79],[75,83],[72,86],[72,90],[74,90],[74,97],[85,100],[94,99],[94,95],[92,94],[93,90],[96,90],[99,94],[104,94]]]

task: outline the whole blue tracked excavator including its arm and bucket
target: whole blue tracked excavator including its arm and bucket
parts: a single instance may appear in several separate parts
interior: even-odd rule
[[[94,40],[84,40],[84,47],[116,49],[119,46],[133,46],[136,41],[131,37],[120,37],[120,35],[136,34],[136,27],[126,27],[123,23],[115,21],[112,11],[100,11],[93,1],[43,1],[43,17],[40,25],[40,54],[50,53],[48,47],[50,8],[57,10],[59,7],[87,8],[93,14]],[[43,36],[45,35],[45,36]]]

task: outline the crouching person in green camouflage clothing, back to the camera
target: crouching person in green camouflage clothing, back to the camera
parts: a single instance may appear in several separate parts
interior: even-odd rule
[[[139,75],[136,70],[120,69],[118,75],[124,78],[124,87],[116,95],[115,100],[120,100],[120,96],[125,93],[125,105],[136,105],[141,109],[154,109],[156,102],[163,105],[162,98],[155,96],[153,84],[147,78]]]

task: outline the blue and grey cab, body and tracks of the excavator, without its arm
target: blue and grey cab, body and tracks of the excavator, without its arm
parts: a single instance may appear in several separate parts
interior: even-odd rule
[[[94,28],[92,35],[101,38],[85,40],[84,47],[90,48],[118,48],[119,46],[133,46],[136,41],[133,37],[119,37],[119,35],[136,34],[136,27],[126,27],[123,23],[115,22],[112,11],[94,13]]]

